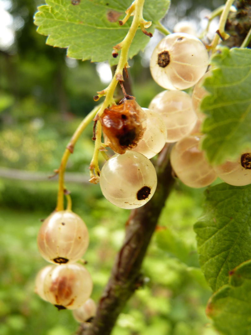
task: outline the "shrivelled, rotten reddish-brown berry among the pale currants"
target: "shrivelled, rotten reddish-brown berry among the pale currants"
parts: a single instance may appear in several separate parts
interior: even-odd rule
[[[106,108],[99,118],[105,144],[117,153],[137,146],[145,131],[146,113],[132,96]]]

